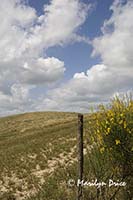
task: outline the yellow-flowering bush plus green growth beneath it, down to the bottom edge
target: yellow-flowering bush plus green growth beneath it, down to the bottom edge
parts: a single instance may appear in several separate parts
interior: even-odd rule
[[[92,199],[123,199],[133,197],[133,100],[114,98],[108,106],[99,106],[91,115],[88,127],[88,174],[98,181],[113,181],[112,186],[96,188]],[[86,164],[87,167],[87,164]],[[111,182],[110,181],[110,182]],[[115,183],[125,182],[124,186]],[[88,191],[86,190],[86,193]],[[96,195],[95,195],[96,194]]]

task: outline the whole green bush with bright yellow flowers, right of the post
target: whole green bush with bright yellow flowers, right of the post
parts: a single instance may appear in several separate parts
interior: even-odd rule
[[[132,194],[133,175],[133,100],[131,97],[114,98],[108,106],[100,105],[99,110],[92,114],[89,132],[93,152],[99,152],[98,158],[91,157],[92,167],[97,159],[104,159],[104,170],[108,171],[106,179],[113,172],[114,178],[127,181],[124,199]],[[100,156],[101,154],[101,156]],[[108,156],[107,156],[108,155]],[[107,164],[107,163],[108,164]],[[101,160],[99,162],[99,165]],[[107,168],[110,166],[109,168]],[[101,167],[101,166],[100,166]],[[99,171],[99,167],[95,172]]]

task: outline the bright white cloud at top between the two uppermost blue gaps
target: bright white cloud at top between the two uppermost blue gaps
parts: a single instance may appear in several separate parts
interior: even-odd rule
[[[84,23],[89,9],[90,4],[86,5],[79,0],[51,1],[51,4],[44,6],[45,15],[39,17],[41,26],[36,26],[32,39],[39,35],[45,47],[62,45],[76,39],[76,31]]]

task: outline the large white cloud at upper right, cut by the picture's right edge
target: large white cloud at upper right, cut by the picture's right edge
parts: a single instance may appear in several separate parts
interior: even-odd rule
[[[132,70],[133,2],[128,1],[126,5],[118,2],[111,7],[113,15],[104,23],[103,36],[93,41],[93,55],[100,54],[103,62],[111,68]]]

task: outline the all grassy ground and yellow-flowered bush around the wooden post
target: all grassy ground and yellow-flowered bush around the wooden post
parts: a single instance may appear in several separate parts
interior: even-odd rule
[[[77,131],[77,113],[0,118],[0,200],[75,200]],[[84,114],[83,180],[106,186],[83,187],[82,200],[132,200],[132,133],[133,101]],[[109,187],[110,179],[126,186]]]

